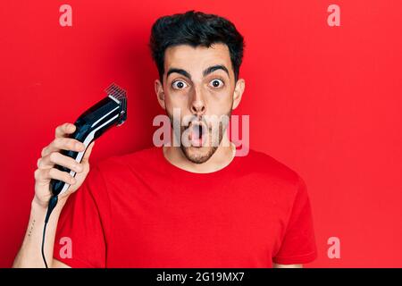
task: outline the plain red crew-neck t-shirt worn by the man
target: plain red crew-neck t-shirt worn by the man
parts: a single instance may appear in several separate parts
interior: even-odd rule
[[[68,199],[54,241],[54,258],[71,267],[272,267],[315,257],[304,181],[254,150],[210,173],[170,164],[161,147],[111,156]]]

